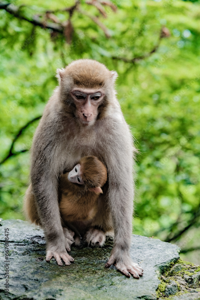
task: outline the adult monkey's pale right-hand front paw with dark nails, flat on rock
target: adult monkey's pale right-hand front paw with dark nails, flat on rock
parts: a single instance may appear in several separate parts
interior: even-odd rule
[[[111,265],[115,265],[115,267],[121,271],[127,277],[130,277],[131,274],[134,278],[139,279],[140,276],[143,276],[143,269],[135,262],[129,258],[126,262],[116,262],[114,257],[111,255],[109,261],[106,263],[105,267],[110,267]]]

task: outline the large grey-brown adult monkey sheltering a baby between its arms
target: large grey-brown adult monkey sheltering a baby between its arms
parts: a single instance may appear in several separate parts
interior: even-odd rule
[[[61,225],[58,182],[83,156],[94,155],[108,172],[106,192],[99,198],[86,240],[94,243],[114,229],[115,239],[106,267],[114,264],[130,277],[142,268],[130,258],[133,213],[133,140],[115,97],[117,73],[90,59],[73,61],[58,70],[59,86],[49,99],[32,145],[31,186],[45,232],[46,261],[70,264],[70,240]],[[34,196],[33,196],[34,195]]]

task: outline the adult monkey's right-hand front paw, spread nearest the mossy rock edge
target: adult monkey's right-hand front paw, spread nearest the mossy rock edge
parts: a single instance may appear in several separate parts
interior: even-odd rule
[[[111,254],[105,267],[108,268],[111,265],[115,265],[115,267],[127,277],[130,277],[132,274],[133,277],[138,279],[139,276],[143,275],[143,269],[137,263],[132,261],[129,254],[121,253],[121,256],[117,256],[115,250],[112,252],[113,253]]]

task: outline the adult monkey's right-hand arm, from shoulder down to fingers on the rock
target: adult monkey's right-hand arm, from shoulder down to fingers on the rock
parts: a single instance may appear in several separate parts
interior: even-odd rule
[[[125,122],[125,121],[124,121]],[[123,130],[122,130],[123,128]],[[110,136],[105,157],[108,172],[108,204],[115,232],[114,247],[106,267],[114,264],[130,277],[142,276],[142,269],[130,258],[133,215],[133,141],[127,124],[116,129],[118,136]]]

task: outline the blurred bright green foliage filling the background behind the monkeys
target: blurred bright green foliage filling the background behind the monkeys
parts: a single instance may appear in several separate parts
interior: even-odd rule
[[[20,14],[29,19],[74,4],[70,0],[12,3],[24,4]],[[113,3],[117,11],[106,6],[107,18],[103,18],[96,7],[80,1],[83,13],[74,10],[71,17],[71,44],[63,34],[0,9],[1,160],[19,130],[42,114],[57,85],[55,70],[74,59],[96,59],[118,72],[118,99],[139,149],[134,232],[163,240],[180,238],[190,223],[190,228],[199,227],[200,4],[181,0]],[[84,11],[98,17],[110,38]],[[69,18],[66,11],[55,15],[62,22]],[[160,39],[163,26],[170,36]],[[124,61],[134,57],[140,58],[134,63]],[[32,122],[22,131],[12,149],[16,155],[0,165],[4,219],[24,218],[29,152],[22,151],[30,149],[37,124]],[[187,238],[184,247],[191,243]]]

